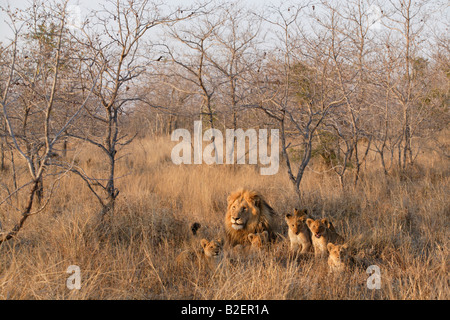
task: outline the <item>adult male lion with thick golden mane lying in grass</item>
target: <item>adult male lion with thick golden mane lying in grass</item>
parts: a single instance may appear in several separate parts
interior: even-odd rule
[[[275,239],[275,211],[256,191],[239,189],[228,196],[225,233],[229,245],[248,245],[250,233],[267,231]]]

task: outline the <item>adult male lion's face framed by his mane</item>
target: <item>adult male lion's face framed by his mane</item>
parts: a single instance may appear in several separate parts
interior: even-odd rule
[[[253,191],[239,190],[228,197],[227,219],[231,228],[242,230],[260,216],[261,197]]]

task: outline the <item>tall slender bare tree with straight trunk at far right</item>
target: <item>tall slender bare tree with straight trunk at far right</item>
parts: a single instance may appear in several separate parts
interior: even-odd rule
[[[412,139],[425,113],[421,108],[421,100],[426,95],[420,81],[421,68],[419,43],[420,35],[427,21],[427,1],[399,0],[389,1],[386,28],[394,34],[388,44],[391,54],[396,58],[394,73],[389,74],[392,97],[395,98],[401,110],[401,139],[398,143],[398,165],[406,169],[414,161]]]

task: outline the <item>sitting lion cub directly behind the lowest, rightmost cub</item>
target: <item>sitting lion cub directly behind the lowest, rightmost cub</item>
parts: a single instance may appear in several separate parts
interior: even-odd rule
[[[328,253],[328,243],[342,243],[342,238],[334,229],[333,224],[328,219],[306,219],[306,224],[311,230],[311,239],[316,257],[326,257]]]

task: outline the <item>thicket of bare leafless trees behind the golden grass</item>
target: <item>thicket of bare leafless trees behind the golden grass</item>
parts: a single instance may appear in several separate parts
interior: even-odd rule
[[[386,175],[413,165],[418,141],[449,122],[448,4],[298,3],[111,1],[76,26],[67,1],[2,8],[13,37],[0,44],[0,169],[9,163],[13,178],[0,206],[21,219],[0,242],[45,208],[67,174],[91,190],[103,217],[119,195],[121,148],[194,120],[279,129],[300,199],[315,156],[342,188],[357,187],[369,151]],[[101,150],[107,169],[89,176],[67,157],[71,142]],[[18,158],[27,172],[16,172]],[[13,205],[19,193],[27,196]]]

